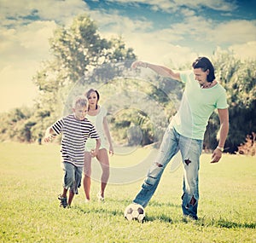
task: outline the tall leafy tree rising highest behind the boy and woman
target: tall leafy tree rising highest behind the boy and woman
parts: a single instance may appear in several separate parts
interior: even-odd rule
[[[44,129],[62,115],[70,90],[79,79],[99,69],[96,67],[136,58],[133,49],[126,49],[121,38],[101,38],[95,22],[85,14],[76,17],[69,27],[58,27],[49,43],[54,59],[45,61],[44,67],[33,78],[40,90],[35,116],[38,123],[44,121],[40,125]],[[88,82],[93,81],[102,82],[93,79]]]

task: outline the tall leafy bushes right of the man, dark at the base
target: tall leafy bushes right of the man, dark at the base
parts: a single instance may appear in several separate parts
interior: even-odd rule
[[[212,61],[218,80],[227,91],[230,106],[230,131],[225,151],[235,153],[247,135],[256,130],[256,61],[241,61],[232,53],[220,50],[213,55]],[[205,135],[206,148],[216,148],[218,124],[218,115],[213,113]]]

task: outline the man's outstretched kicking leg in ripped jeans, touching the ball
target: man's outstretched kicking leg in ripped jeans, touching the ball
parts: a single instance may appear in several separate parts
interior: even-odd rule
[[[169,127],[167,128],[158,155],[148,171],[148,176],[143,182],[141,191],[133,200],[134,203],[143,205],[143,207],[148,205],[149,200],[153,196],[154,191],[160,182],[160,177],[162,176],[166,165],[178,151],[178,136],[179,135],[175,130],[170,129]]]

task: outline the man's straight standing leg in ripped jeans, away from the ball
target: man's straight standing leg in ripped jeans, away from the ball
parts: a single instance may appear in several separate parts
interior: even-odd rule
[[[182,137],[179,148],[183,157],[183,215],[197,219],[199,200],[198,172],[202,141]]]

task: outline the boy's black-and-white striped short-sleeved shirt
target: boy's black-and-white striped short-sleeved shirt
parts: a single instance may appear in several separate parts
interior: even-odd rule
[[[74,115],[61,118],[51,126],[57,135],[62,133],[61,154],[63,162],[84,166],[84,145],[87,139],[99,139],[96,128],[88,119],[78,120]]]

